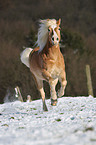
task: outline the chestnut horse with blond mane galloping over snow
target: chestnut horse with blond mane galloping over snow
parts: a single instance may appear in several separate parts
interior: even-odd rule
[[[57,104],[55,86],[58,80],[61,83],[61,88],[58,92],[59,97],[64,95],[67,84],[64,59],[59,48],[60,23],[61,19],[58,21],[55,19],[40,20],[36,42],[38,46],[35,49],[26,48],[21,53],[21,61],[30,68],[40,91],[44,111],[48,111],[48,109],[45,102],[43,80],[50,85],[51,105],[53,106]]]

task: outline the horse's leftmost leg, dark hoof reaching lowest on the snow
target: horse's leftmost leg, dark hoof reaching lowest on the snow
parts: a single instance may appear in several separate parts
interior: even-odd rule
[[[38,78],[36,78],[34,75],[33,75],[33,77],[34,77],[34,80],[36,82],[37,88],[38,88],[38,90],[39,90],[39,92],[41,94],[41,97],[42,97],[43,110],[44,111],[48,111],[47,106],[46,106],[46,102],[45,102],[45,92],[44,92],[44,89],[43,89],[43,81],[38,79]]]

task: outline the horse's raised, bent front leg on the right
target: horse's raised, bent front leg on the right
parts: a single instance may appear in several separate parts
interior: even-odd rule
[[[59,81],[61,83],[61,88],[60,88],[60,90],[58,92],[58,97],[62,97],[64,95],[64,90],[65,90],[65,87],[67,85],[65,71],[61,73],[61,75],[59,77]]]

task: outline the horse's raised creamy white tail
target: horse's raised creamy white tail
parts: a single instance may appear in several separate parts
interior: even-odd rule
[[[21,53],[21,62],[24,63],[27,67],[30,67],[29,65],[29,55],[31,53],[33,49],[32,48],[26,48],[25,50],[23,50],[23,52]]]

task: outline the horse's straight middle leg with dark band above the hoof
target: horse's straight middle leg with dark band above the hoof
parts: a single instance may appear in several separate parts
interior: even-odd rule
[[[51,93],[51,105],[56,106],[57,104],[57,95],[56,95],[56,84],[58,82],[58,78],[55,80],[49,80],[50,84],[50,93]]]

